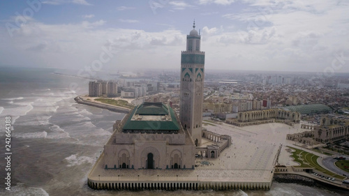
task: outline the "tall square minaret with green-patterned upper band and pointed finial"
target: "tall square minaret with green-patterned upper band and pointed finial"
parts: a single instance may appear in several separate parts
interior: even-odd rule
[[[198,31],[186,36],[186,51],[181,52],[181,96],[179,116],[195,146],[201,145],[202,102],[204,93],[205,52],[200,51]]]

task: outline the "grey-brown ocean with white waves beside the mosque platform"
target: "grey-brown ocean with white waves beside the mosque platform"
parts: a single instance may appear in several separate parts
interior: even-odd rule
[[[272,184],[271,190],[92,190],[87,174],[124,114],[75,103],[89,80],[77,70],[1,68],[0,195],[347,195],[341,190]],[[73,86],[73,88],[72,88]],[[10,191],[6,190],[5,118],[11,117]]]

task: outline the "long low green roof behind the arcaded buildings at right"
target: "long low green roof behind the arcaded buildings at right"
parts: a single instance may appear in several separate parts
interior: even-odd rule
[[[283,107],[284,110],[299,112],[301,114],[317,114],[331,112],[331,107],[323,104],[292,105]]]

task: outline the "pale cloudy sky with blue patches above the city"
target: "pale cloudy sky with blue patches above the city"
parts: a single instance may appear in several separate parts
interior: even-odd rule
[[[207,69],[349,72],[348,13],[347,0],[1,1],[0,66],[179,68],[195,19]]]

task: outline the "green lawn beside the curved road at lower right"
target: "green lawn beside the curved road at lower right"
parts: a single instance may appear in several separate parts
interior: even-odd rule
[[[329,176],[333,176],[335,178],[338,178],[338,179],[344,179],[343,176],[341,175],[338,175],[338,174],[334,174],[333,172],[330,172],[328,171],[327,169],[321,167],[319,164],[318,164],[318,158],[319,156],[316,156],[314,155],[313,153],[309,153],[309,152],[306,152],[306,151],[302,151],[300,149],[295,149],[295,148],[292,148],[290,146],[288,146],[290,149],[293,149],[295,150],[294,152],[292,152],[292,157],[295,158],[295,161],[297,163],[299,163],[300,165],[297,166],[297,167],[314,167],[315,169],[317,169],[318,171],[324,173],[324,174],[327,174]]]

